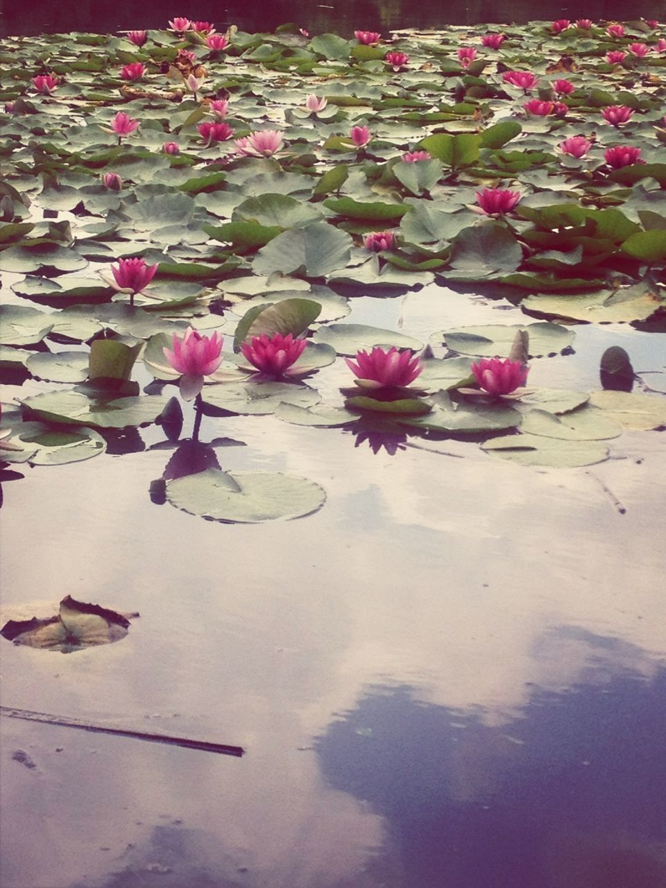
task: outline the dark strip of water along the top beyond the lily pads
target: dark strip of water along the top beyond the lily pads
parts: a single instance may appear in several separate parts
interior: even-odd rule
[[[131,28],[166,28],[174,16],[208,20],[219,29],[236,24],[244,31],[272,31],[296,21],[311,34],[335,31],[352,36],[354,28],[438,28],[479,22],[526,22],[580,16],[592,20],[666,19],[664,0],[0,0],[0,33],[36,35]]]

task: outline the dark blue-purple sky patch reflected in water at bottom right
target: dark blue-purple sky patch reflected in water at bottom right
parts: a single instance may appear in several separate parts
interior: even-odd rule
[[[385,818],[387,884],[666,886],[666,668],[609,675],[631,646],[567,631],[590,652],[590,683],[534,686],[510,724],[378,687],[321,737],[330,786]]]

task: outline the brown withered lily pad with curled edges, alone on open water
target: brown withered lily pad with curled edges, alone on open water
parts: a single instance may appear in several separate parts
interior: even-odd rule
[[[107,607],[76,601],[67,595],[59,604],[59,613],[30,620],[9,620],[0,635],[15,645],[44,647],[50,651],[71,654],[85,647],[108,645],[127,635],[131,617],[139,614],[118,614]]]

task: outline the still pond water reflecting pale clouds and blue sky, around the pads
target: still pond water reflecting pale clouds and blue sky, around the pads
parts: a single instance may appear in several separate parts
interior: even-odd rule
[[[349,321],[521,318],[433,287]],[[597,387],[610,341],[657,369],[663,340],[582,325],[530,381]],[[343,375],[321,370],[324,397]],[[4,705],[247,750],[3,719],[4,888],[662,888],[664,435],[559,471],[266,416],[204,418],[219,435],[245,443],[223,467],[310,478],[321,511],[243,526],[151,503],[155,427],[4,485],[6,603],[141,614],[76,654],[0,639]]]

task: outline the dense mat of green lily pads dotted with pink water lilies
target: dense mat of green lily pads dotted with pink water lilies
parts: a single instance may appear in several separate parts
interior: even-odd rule
[[[86,459],[105,430],[155,421],[177,441],[172,382],[196,432],[202,412],[274,414],[470,437],[525,464],[599,462],[622,427],[666,424],[659,396],[527,378],[529,357],[572,345],[567,323],[663,316],[664,34],[173,20],[8,39],[0,272],[36,305],[0,308],[0,367],[69,387],[5,405],[3,458]],[[344,322],[353,297],[426,284],[491,288],[532,317],[429,343]],[[345,357],[348,387],[324,404],[315,374]],[[186,511],[256,521],[323,502],[312,482],[232,476],[191,446],[182,463],[154,495]]]

